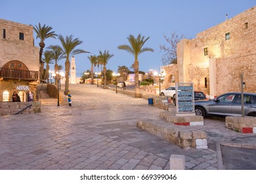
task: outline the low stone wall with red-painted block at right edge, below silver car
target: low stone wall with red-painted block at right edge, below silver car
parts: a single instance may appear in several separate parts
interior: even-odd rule
[[[256,133],[256,118],[251,116],[226,116],[226,127],[241,133]]]

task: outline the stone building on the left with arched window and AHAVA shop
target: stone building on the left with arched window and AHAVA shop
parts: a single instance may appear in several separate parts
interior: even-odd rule
[[[33,45],[33,26],[0,19],[0,101],[17,92],[28,101],[39,83],[39,48]]]

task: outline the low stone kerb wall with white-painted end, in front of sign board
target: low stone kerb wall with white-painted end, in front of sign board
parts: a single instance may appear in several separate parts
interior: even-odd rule
[[[137,127],[152,133],[181,148],[207,148],[206,133],[192,129],[180,129],[166,122],[137,120]]]

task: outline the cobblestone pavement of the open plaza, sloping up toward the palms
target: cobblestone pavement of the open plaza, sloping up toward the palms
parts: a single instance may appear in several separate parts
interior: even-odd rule
[[[215,142],[251,137],[206,119],[210,148],[185,150],[136,127],[163,120],[146,99],[87,84],[71,84],[70,93],[72,107],[0,116],[0,169],[169,169],[171,154],[184,155],[186,169],[218,169]]]

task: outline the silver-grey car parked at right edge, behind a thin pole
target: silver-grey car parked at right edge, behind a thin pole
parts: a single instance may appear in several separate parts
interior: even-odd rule
[[[195,101],[197,116],[242,116],[241,93],[224,93],[205,101]],[[256,93],[244,93],[244,115],[256,116]]]

